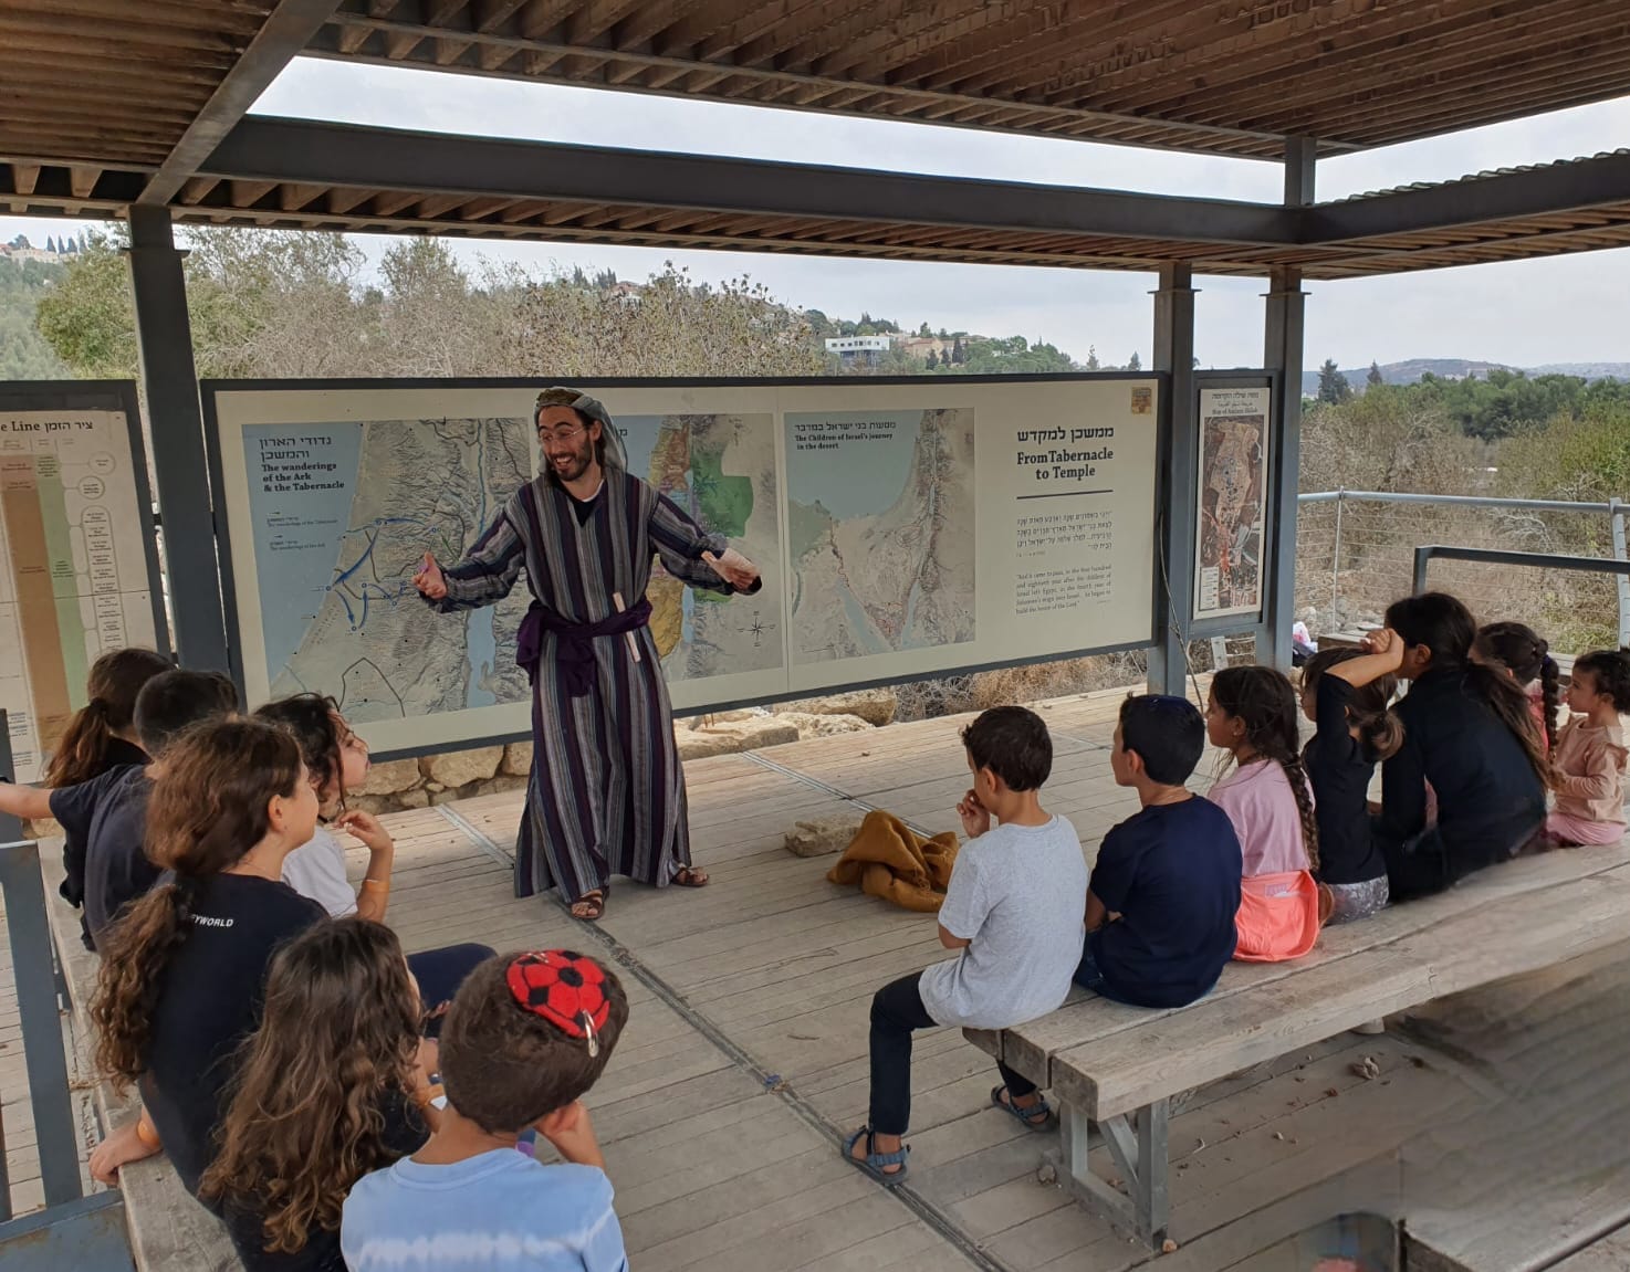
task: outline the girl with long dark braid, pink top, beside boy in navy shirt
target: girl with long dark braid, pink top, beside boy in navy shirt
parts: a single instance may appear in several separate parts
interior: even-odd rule
[[[1211,788],[1244,857],[1234,958],[1301,958],[1319,938],[1319,822],[1302,769],[1296,691],[1273,668],[1226,668],[1211,679],[1206,736],[1236,770]]]

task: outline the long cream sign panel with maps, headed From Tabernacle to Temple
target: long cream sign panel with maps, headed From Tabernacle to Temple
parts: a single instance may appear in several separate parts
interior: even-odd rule
[[[1151,637],[1156,379],[584,384],[631,471],[763,570],[652,575],[675,707]],[[468,614],[412,588],[538,471],[513,381],[209,384],[228,609],[251,702],[334,694],[378,749],[522,733],[525,583]]]

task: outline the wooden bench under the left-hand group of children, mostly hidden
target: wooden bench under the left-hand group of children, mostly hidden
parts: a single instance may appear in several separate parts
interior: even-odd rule
[[[109,1083],[95,1080],[91,1055],[96,1031],[90,1002],[99,959],[80,940],[80,912],[57,894],[62,883],[60,840],[41,842],[39,866],[46,879],[51,935],[73,1007],[73,1078],[93,1088],[103,1130],[112,1132],[140,1114],[142,1101],[134,1090],[121,1096]],[[140,1272],[233,1272],[243,1267],[225,1226],[181,1186],[181,1176],[163,1153],[124,1166],[119,1191],[124,1194],[130,1254]]]

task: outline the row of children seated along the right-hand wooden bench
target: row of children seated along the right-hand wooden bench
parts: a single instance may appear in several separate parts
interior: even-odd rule
[[[1394,700],[1400,681],[1408,692]],[[1022,707],[986,712],[963,735],[968,842],[939,917],[941,945],[958,954],[872,1000],[870,1117],[848,1158],[885,1184],[905,1178],[916,1029],[1014,1028],[1060,1007],[1071,982],[1185,1007],[1231,959],[1294,959],[1327,923],[1527,850],[1619,840],[1630,650],[1573,665],[1560,728],[1558,689],[1532,630],[1478,629],[1454,596],[1428,593],[1394,604],[1364,648],[1309,658],[1299,694],[1249,666],[1213,676],[1203,717],[1187,699],[1130,697],[1110,769],[1139,811],[1104,837],[1090,878],[1069,822],[1040,803],[1046,726]],[[1306,746],[1299,717],[1315,726]],[[1188,782],[1206,741],[1229,772],[1200,796]],[[991,1103],[1050,1129],[1035,1083],[998,1068]]]

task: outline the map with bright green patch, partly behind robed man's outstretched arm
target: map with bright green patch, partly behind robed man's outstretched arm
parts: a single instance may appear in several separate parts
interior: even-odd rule
[[[782,665],[781,528],[776,508],[776,419],[755,415],[624,415],[628,466],[703,529],[760,562],[756,596],[688,588],[659,560],[645,596],[650,634],[668,682]]]

